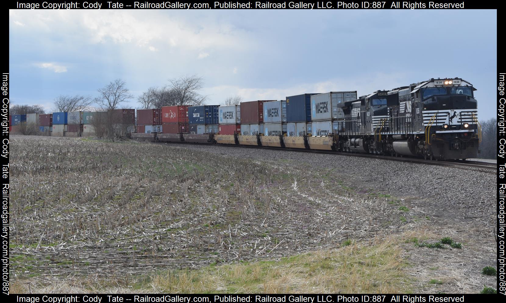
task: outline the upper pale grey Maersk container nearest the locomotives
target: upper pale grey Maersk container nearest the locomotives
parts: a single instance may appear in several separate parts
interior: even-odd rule
[[[311,121],[344,119],[338,104],[357,99],[357,91],[329,92],[311,96]]]

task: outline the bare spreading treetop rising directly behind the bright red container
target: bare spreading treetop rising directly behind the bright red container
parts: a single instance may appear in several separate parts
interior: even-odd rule
[[[174,105],[202,105],[207,100],[207,96],[198,93],[204,85],[204,79],[196,74],[168,81],[171,83],[169,89],[176,100]]]

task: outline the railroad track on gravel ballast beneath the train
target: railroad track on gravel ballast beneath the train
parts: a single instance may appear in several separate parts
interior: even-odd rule
[[[382,155],[371,155],[371,154],[357,154],[357,153],[345,153],[345,152],[334,152],[333,150],[319,150],[319,149],[303,149],[303,148],[287,148],[287,147],[273,147],[273,146],[255,146],[255,145],[232,145],[232,144],[210,144],[210,143],[199,143],[199,142],[166,142],[166,141],[150,141],[156,143],[176,143],[176,144],[191,144],[191,145],[230,145],[232,147],[243,147],[243,148],[264,148],[264,149],[273,149],[273,150],[290,150],[292,152],[299,153],[315,153],[315,154],[328,154],[328,155],[344,155],[344,156],[352,156],[352,157],[363,157],[363,158],[376,158],[376,159],[384,159],[391,161],[399,161],[399,162],[411,162],[411,163],[424,163],[429,165],[439,165],[439,166],[456,166],[456,167],[466,167],[466,168],[479,168],[485,170],[497,170],[497,163],[492,162],[481,162],[481,161],[467,161],[467,160],[425,160],[420,158],[409,158],[409,157],[392,157],[392,156],[382,156]]]

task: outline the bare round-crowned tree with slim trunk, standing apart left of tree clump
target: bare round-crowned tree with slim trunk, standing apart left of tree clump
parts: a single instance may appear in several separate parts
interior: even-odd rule
[[[128,103],[134,96],[126,88],[126,82],[121,79],[111,81],[109,84],[97,90],[99,97],[95,100],[102,110],[107,111],[107,136],[114,140],[114,110],[122,103]]]

